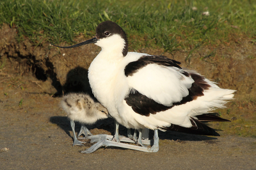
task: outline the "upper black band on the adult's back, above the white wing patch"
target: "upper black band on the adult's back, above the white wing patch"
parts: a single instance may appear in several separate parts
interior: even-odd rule
[[[127,77],[131,76],[134,73],[138,72],[138,70],[140,70],[144,66],[147,66],[153,63],[157,65],[162,65],[162,66],[175,66],[177,68],[181,68],[179,66],[180,65],[179,61],[166,58],[166,56],[142,56],[137,61],[133,61],[129,63],[127,66],[125,66],[124,73]]]

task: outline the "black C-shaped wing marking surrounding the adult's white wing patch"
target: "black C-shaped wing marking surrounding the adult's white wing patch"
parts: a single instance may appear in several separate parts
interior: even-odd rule
[[[156,63],[157,65],[162,66],[175,66],[177,68],[179,66],[179,62],[173,59],[166,58],[165,56],[142,56],[137,61],[133,61],[125,66],[125,75],[131,76],[134,73],[138,72],[140,68],[146,66],[148,64]],[[156,114],[157,112],[166,111],[171,109],[174,105],[182,105],[187,102],[191,102],[192,100],[196,100],[197,97],[204,96],[204,90],[209,89],[211,85],[209,85],[205,81],[205,77],[199,75],[197,73],[188,73],[186,71],[182,72],[183,75],[191,78],[195,81],[191,85],[191,88],[188,89],[189,95],[183,97],[180,102],[175,102],[172,106],[166,106],[163,104],[159,104],[151,98],[148,98],[145,95],[142,95],[136,89],[132,89],[129,95],[125,98],[126,103],[132,107],[132,110],[138,114],[149,116],[150,114]]]

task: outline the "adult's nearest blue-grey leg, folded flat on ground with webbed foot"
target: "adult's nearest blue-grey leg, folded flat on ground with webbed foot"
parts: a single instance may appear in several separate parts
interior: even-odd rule
[[[130,150],[138,150],[138,151],[145,151],[145,152],[157,152],[159,150],[159,137],[158,137],[158,130],[156,129],[154,131],[154,144],[151,148],[143,147],[143,146],[135,146],[131,144],[125,144],[125,143],[116,143],[114,141],[109,141],[107,139],[102,139],[98,143],[93,144],[93,146],[85,151],[81,151],[81,153],[92,153],[93,151],[96,151],[101,146],[116,146],[119,148],[127,148]]]

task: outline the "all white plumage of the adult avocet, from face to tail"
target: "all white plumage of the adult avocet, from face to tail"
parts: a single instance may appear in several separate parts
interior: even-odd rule
[[[108,109],[109,114],[125,127],[146,127],[152,130],[169,127],[171,124],[191,127],[190,117],[207,113],[216,107],[224,107],[227,100],[234,96],[232,95],[234,90],[221,89],[213,82],[205,79],[211,88],[205,90],[204,96],[198,97],[196,100],[175,105],[172,109],[150,114],[150,116],[143,116],[134,112],[124,100],[131,89],[136,89],[159,104],[171,106],[173,102],[179,102],[182,97],[188,95],[188,88],[194,81],[191,77],[183,75],[183,70],[180,68],[156,64],[147,65],[133,75],[126,77],[125,66],[148,54],[128,52],[127,56],[122,56],[124,43],[123,46],[120,45],[118,50],[113,50],[109,45],[109,43],[113,43],[113,39],[122,42],[122,38],[118,36],[104,38],[104,42],[99,40],[96,43],[102,47],[102,51],[90,65],[88,78],[95,97]],[[113,52],[108,49],[109,47]]]

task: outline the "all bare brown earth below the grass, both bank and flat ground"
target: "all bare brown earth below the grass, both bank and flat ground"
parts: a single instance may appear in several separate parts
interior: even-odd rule
[[[221,88],[237,90],[227,109],[218,110],[232,121],[211,124],[221,137],[161,132],[157,153],[101,148],[86,155],[79,151],[90,144],[72,147],[59,96],[90,91],[87,69],[100,49],[95,45],[58,49],[44,39],[34,45],[28,38],[17,42],[15,36],[16,30],[7,25],[0,29],[1,169],[256,169],[256,45],[248,38],[201,47],[187,63],[186,50],[173,54],[140,50],[173,58]],[[81,41],[83,36],[77,38]],[[205,56],[209,57],[200,59]],[[93,134],[113,134],[113,120],[89,128]],[[120,133],[125,135],[125,128]]]

